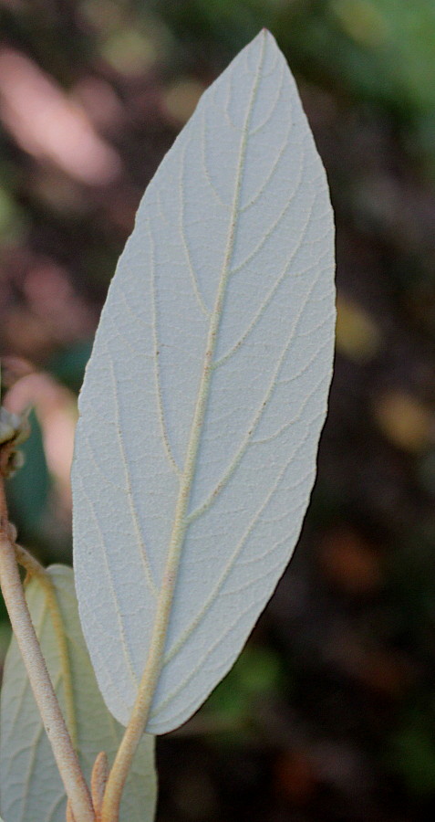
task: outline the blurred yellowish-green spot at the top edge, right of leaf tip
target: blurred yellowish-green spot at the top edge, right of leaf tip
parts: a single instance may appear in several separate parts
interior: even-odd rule
[[[347,36],[362,46],[381,46],[387,40],[386,20],[368,0],[333,0],[331,8]]]

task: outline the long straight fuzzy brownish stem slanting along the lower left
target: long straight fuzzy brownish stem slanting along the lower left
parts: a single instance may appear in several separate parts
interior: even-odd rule
[[[9,536],[2,456],[0,450],[0,585],[5,605],[74,817],[80,822],[95,822],[88,786],[53,690],[21,584],[15,548]]]

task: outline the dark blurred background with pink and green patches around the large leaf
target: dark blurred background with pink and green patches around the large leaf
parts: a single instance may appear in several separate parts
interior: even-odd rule
[[[0,0],[0,341],[21,542],[70,562],[76,400],[150,176],[267,26],[337,216],[337,364],[294,559],[158,745],[159,822],[435,812],[434,0]],[[8,641],[1,612],[0,658]]]

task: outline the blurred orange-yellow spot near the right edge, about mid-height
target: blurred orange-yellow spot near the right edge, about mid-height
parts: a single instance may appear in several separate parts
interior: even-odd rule
[[[422,451],[433,440],[433,416],[415,397],[389,391],[378,398],[374,410],[378,427],[398,448]]]

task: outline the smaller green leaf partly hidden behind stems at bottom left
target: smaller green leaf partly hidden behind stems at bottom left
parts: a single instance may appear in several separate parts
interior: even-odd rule
[[[38,579],[26,585],[26,598],[89,784],[97,754],[105,751],[109,762],[113,761],[123,729],[110,715],[98,690],[81,633],[72,570],[52,565],[47,574],[54,585],[58,625],[65,631],[66,654],[62,653],[62,640],[59,644],[54,626],[50,596]],[[0,730],[1,810],[7,822],[65,822],[64,787],[15,639],[5,659]],[[155,798],[154,740],[146,734],[129,775],[121,822],[151,822]]]

